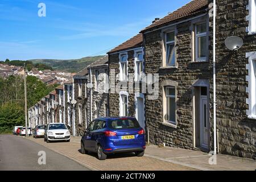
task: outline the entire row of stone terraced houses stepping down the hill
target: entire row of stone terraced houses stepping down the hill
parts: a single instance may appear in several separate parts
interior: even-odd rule
[[[64,84],[64,118],[72,134],[82,135],[97,117],[131,116],[150,144],[213,151],[212,2],[193,0],[156,18]],[[255,159],[256,0],[216,2],[217,151]],[[243,46],[226,48],[230,36],[242,38]],[[54,91],[40,102],[47,123],[56,121],[56,97]],[[31,126],[40,122],[39,105],[29,109]]]

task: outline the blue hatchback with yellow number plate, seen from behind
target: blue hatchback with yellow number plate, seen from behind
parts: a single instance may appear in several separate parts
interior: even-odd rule
[[[100,160],[118,152],[143,156],[145,148],[145,132],[133,117],[94,119],[81,139],[81,153],[97,152]]]

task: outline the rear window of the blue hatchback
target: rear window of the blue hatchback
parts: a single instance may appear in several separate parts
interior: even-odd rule
[[[109,121],[109,127],[111,129],[137,129],[140,126],[136,119],[122,118]]]

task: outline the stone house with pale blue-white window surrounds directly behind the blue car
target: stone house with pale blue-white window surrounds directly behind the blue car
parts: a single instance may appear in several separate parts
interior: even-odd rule
[[[110,116],[136,117],[144,124],[144,49],[142,34],[138,34],[108,52],[110,72]],[[135,87],[136,85],[136,87]]]

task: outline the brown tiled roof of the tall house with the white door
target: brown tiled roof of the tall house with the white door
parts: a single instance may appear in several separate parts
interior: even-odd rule
[[[188,16],[204,13],[208,7],[208,4],[208,0],[193,0],[186,5],[180,7],[179,9],[175,10],[174,12],[168,14],[167,16],[164,16],[164,18],[161,18],[156,22],[150,24],[150,26],[147,26],[141,32],[152,30],[154,28],[164,26],[167,23],[174,22],[180,19],[188,18]]]

